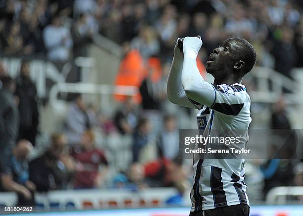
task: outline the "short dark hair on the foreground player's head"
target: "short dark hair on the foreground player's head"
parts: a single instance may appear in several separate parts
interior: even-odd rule
[[[239,57],[241,60],[245,62],[245,65],[242,69],[243,75],[247,74],[253,69],[253,66],[255,65],[257,54],[255,52],[255,49],[253,48],[253,45],[245,40],[244,38],[232,38],[236,40],[237,42],[241,43],[241,48],[239,49]]]

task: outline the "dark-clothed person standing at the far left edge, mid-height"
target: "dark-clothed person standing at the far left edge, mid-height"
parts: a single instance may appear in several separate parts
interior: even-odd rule
[[[13,95],[15,82],[1,77],[0,89],[0,164],[7,160],[18,137],[19,113]]]

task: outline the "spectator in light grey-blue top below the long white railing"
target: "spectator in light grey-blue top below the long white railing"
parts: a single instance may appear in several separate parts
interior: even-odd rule
[[[77,94],[65,119],[64,131],[68,137],[69,144],[80,143],[82,134],[90,129],[91,126],[87,106],[83,101],[82,95]]]

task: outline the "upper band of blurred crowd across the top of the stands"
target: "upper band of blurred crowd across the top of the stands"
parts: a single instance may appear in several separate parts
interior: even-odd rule
[[[170,54],[178,37],[201,35],[202,61],[228,37],[243,36],[258,65],[290,75],[303,62],[302,0],[2,0],[0,49],[67,61],[101,33],[147,59]]]

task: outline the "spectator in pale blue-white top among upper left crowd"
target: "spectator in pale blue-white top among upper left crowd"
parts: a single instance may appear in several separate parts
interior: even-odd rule
[[[54,15],[51,24],[43,30],[44,44],[48,50],[48,57],[53,61],[67,61],[73,45],[70,30],[63,26],[64,16]]]

